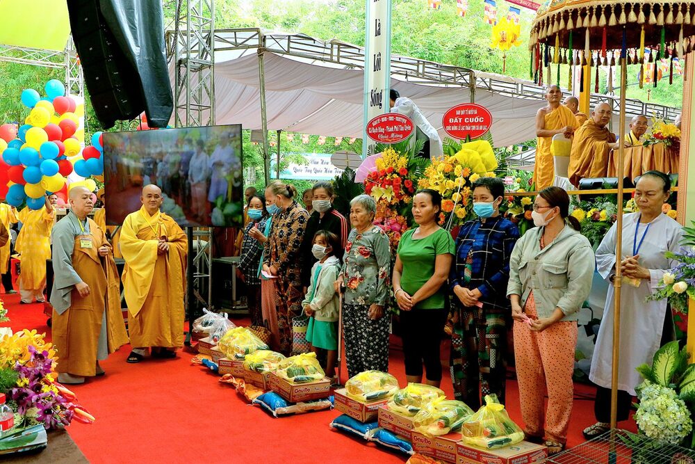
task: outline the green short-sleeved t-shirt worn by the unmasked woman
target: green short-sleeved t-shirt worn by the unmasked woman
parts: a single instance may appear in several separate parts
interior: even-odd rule
[[[424,239],[413,239],[415,229],[405,232],[398,243],[398,256],[403,263],[400,286],[414,295],[434,275],[434,262],[438,255],[455,253],[454,239],[446,230],[439,229]],[[446,285],[430,298],[416,304],[416,309],[436,310],[444,307]]]

